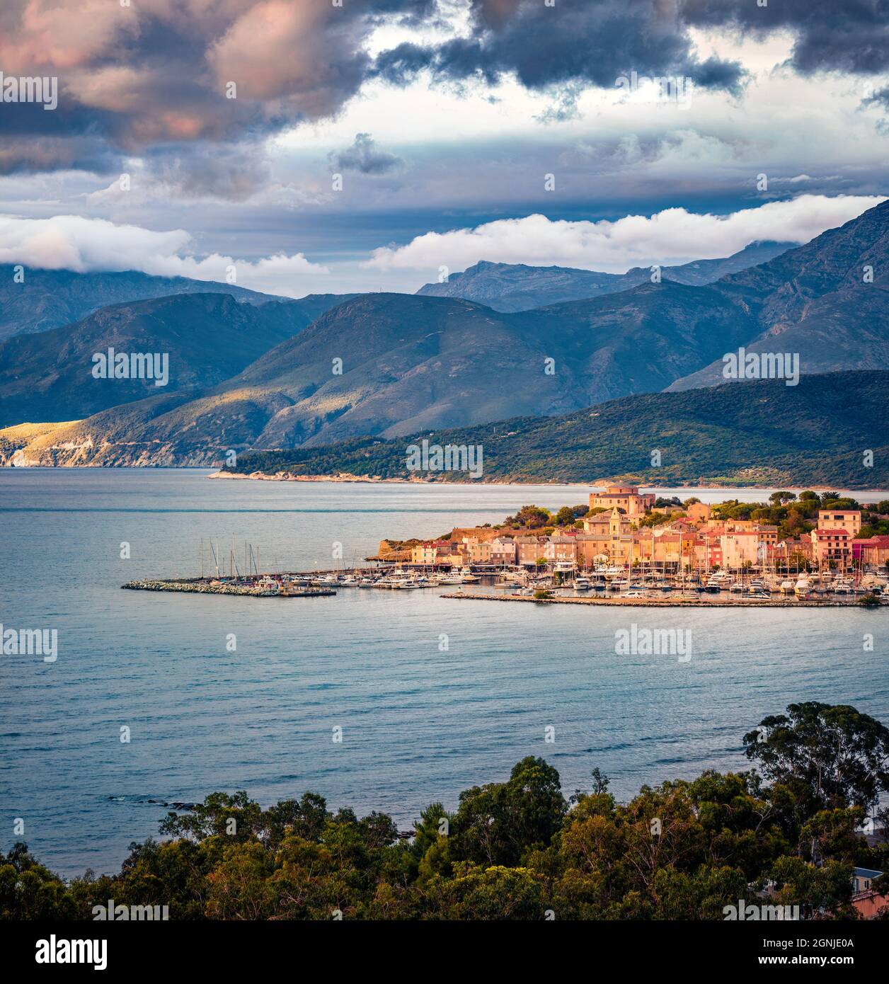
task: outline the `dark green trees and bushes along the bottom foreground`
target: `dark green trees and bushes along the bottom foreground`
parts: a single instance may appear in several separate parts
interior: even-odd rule
[[[772,904],[855,918],[853,867],[889,868],[889,842],[859,833],[889,789],[889,729],[809,703],[743,745],[754,769],[643,786],[626,804],[599,769],[565,799],[529,757],[452,814],[432,804],[410,841],[385,814],[333,813],[314,793],[267,810],[213,793],[167,816],[170,839],[132,844],[114,876],[66,883],[16,844],[0,855],[0,916],[90,919],[113,898],[171,919],[722,919],[771,883]]]

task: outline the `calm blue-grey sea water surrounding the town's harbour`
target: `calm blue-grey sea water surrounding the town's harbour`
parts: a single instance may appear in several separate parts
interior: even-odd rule
[[[889,721],[885,611],[122,591],[134,578],[197,573],[202,536],[218,537],[226,556],[232,534],[246,537],[263,566],[298,570],[335,566],[334,542],[349,562],[384,536],[494,523],[529,502],[585,501],[576,487],[206,475],[0,470],[0,621],[58,632],[52,664],[0,656],[0,848],[22,839],[13,833],[21,818],[24,839],[53,869],[113,871],[166,813],[148,799],[220,789],[246,789],[264,805],[314,790],[334,808],[386,811],[406,830],[428,803],[454,807],[461,789],[504,778],[526,755],[553,763],[566,793],[599,766],[628,797],[643,782],[746,768],[741,735],[793,701],[850,703]],[[691,659],[616,655],[615,634],[632,621],[687,631]],[[873,652],[863,651],[864,633]]]

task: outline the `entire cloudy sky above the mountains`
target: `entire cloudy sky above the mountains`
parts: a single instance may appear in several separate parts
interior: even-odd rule
[[[889,0],[4,0],[0,72],[6,264],[622,273],[889,187]]]

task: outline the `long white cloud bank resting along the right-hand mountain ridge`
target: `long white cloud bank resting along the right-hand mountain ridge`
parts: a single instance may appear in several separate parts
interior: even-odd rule
[[[617,221],[569,221],[526,215],[475,228],[427,232],[405,246],[374,250],[365,267],[381,270],[464,270],[480,260],[569,266],[623,273],[651,263],[730,256],[756,240],[808,242],[884,199],[877,196],[800,195],[731,215],[666,209]]]

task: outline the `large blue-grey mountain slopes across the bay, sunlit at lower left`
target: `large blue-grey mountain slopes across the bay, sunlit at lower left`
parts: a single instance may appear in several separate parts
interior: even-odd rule
[[[760,244],[748,260],[757,248],[778,245]],[[674,268],[700,279],[728,264],[731,272],[710,283],[683,283],[666,270],[653,283],[641,271],[642,282],[625,280],[621,290],[520,311],[422,292],[234,305],[217,298],[238,315],[224,329],[225,345],[216,346],[231,345],[230,353],[212,351],[222,334],[206,295],[103,309],[56,336],[13,339],[0,349],[0,397],[12,407],[2,420],[70,421],[28,432],[27,440],[17,431],[28,460],[210,464],[231,450],[393,438],[713,386],[724,382],[723,356],[740,346],[795,352],[803,374],[889,368],[889,202],[782,249],[741,270],[742,254],[686,265],[696,272]],[[504,265],[487,267],[503,275]],[[472,276],[485,268],[471,268]],[[522,278],[527,295],[552,271],[513,268],[507,301]],[[194,344],[186,338],[189,301],[198,305]],[[176,385],[158,393],[152,384],[106,380],[95,390],[66,372],[63,363],[76,367],[115,332],[138,350],[160,338],[171,347],[171,365],[172,351],[181,353]],[[59,357],[68,336],[72,356]]]

